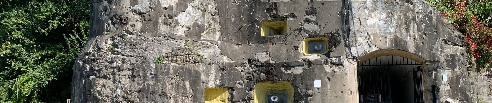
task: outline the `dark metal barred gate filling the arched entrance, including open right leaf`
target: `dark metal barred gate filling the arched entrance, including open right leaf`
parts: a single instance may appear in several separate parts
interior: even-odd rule
[[[403,65],[413,68],[405,70],[408,70],[409,74],[413,73],[415,103],[424,103],[421,63],[400,56],[381,56],[359,62],[357,66],[359,103],[392,103],[391,75],[396,74],[392,74],[391,71],[402,69]],[[415,66],[418,67],[414,68]]]

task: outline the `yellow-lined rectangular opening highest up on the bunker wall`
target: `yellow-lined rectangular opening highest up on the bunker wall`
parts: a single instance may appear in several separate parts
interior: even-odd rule
[[[282,31],[282,35],[287,35],[287,21],[263,21],[261,22],[261,36],[277,35],[277,31]]]

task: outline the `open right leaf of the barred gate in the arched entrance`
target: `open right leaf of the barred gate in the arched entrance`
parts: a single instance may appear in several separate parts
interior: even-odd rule
[[[413,95],[415,103],[424,102],[424,90],[422,89],[422,67],[413,68]]]

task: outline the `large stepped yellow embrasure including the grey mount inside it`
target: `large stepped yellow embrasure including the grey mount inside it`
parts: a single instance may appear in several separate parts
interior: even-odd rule
[[[258,82],[253,89],[254,103],[292,103],[294,86],[290,82]]]

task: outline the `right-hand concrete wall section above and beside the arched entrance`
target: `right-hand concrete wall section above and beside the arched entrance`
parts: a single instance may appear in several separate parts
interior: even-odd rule
[[[438,103],[492,102],[489,84],[471,67],[463,35],[424,0],[352,0],[356,56],[380,49],[400,49],[430,62],[424,64],[425,102],[432,103],[436,84]],[[410,57],[409,57],[410,58]],[[448,74],[449,81],[442,81]],[[477,82],[482,81],[481,83]],[[484,90],[477,92],[476,89]],[[429,98],[430,97],[430,98]]]

